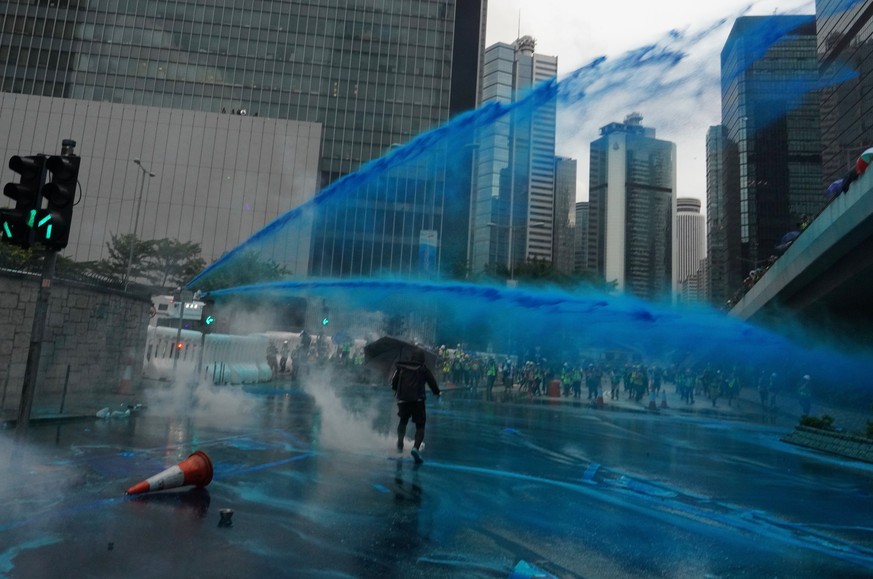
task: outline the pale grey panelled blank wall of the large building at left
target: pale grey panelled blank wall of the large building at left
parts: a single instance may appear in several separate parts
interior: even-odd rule
[[[108,257],[113,235],[136,233],[193,241],[211,262],[317,191],[317,123],[0,93],[0,135],[4,161],[77,141],[80,190],[64,250],[77,261]],[[0,183],[16,179],[4,163]],[[309,233],[289,232],[264,257],[305,273]]]

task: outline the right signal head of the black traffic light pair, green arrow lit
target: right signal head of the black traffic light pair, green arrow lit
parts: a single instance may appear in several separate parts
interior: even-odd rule
[[[47,204],[37,211],[33,228],[35,241],[49,249],[63,249],[70,239],[80,163],[74,155],[53,155],[45,163],[52,179],[42,188]]]

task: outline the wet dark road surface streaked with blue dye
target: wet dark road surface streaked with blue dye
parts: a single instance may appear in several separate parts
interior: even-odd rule
[[[416,467],[394,450],[390,388],[143,401],[126,419],[35,423],[18,452],[0,433],[0,574],[873,574],[873,466],[784,444],[780,424],[455,391],[429,403]],[[123,496],[197,449],[207,488]]]

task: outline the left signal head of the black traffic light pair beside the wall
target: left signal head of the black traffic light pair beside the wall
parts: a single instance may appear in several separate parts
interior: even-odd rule
[[[25,249],[33,243],[33,226],[42,204],[46,157],[33,155],[9,159],[9,168],[21,175],[19,183],[7,183],[3,194],[15,201],[15,207],[0,209],[0,239]]]

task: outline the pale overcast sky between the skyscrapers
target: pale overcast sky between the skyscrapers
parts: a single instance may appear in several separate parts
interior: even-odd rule
[[[662,94],[637,94],[632,78],[617,94],[588,103],[582,113],[559,111],[556,153],[577,160],[577,201],[588,200],[588,147],[598,129],[631,112],[656,137],[676,143],[677,196],[701,200],[706,211],[706,131],[721,120],[719,55],[734,19],[743,15],[815,14],[810,0],[488,0],[486,45],[533,36],[536,52],[558,57],[559,78],[605,56],[683,33],[688,56],[673,71],[681,82]],[[693,39],[693,40],[692,40]],[[670,42],[676,46],[676,42]]]

